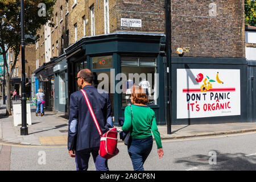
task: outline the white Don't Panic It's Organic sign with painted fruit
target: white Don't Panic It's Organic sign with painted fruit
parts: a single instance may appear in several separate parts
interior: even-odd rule
[[[177,69],[177,119],[241,115],[240,69]]]

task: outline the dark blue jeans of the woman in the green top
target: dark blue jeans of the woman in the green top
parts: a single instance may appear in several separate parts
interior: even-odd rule
[[[133,163],[134,171],[144,171],[143,164],[150,154],[153,146],[152,137],[145,139],[132,139],[128,146],[128,154]]]

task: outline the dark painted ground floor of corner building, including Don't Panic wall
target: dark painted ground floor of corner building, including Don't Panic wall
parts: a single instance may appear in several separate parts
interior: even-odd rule
[[[80,39],[65,49],[65,111],[70,95],[78,90],[77,73],[88,68],[94,73],[93,85],[109,93],[116,126],[130,104],[133,84],[146,89],[157,124],[166,125],[165,49],[166,36],[157,33],[115,32]],[[255,122],[255,79],[251,75],[255,66],[248,63],[245,58],[172,57],[171,125]],[[204,80],[200,81],[201,76]],[[217,82],[217,77],[222,81]],[[212,88],[204,90],[202,84]]]

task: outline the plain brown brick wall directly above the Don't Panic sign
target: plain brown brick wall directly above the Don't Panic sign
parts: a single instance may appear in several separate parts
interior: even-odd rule
[[[245,57],[243,0],[214,1],[216,16],[210,3],[172,0],[172,55],[181,47],[189,50],[184,56]]]

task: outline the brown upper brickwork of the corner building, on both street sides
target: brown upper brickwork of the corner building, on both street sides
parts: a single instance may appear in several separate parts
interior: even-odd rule
[[[55,56],[57,56],[57,41],[59,56],[64,48],[75,43],[75,23],[77,23],[77,39],[84,36],[83,16],[87,22],[86,36],[92,35],[90,14],[92,6],[94,7],[95,35],[105,34],[103,0],[77,0],[76,6],[73,6],[74,0],[68,0],[68,14],[66,2],[66,0],[57,0],[54,6],[53,23],[56,23],[56,13],[58,16],[58,26],[53,28],[51,34]],[[171,3],[173,56],[177,56],[176,49],[181,47],[185,50],[184,56],[245,57],[243,0],[216,0],[214,2],[172,0]],[[61,6],[63,7],[62,22],[60,22]],[[212,11],[214,7],[216,7],[216,16]],[[141,19],[142,28],[123,27],[121,18]],[[110,33],[115,31],[165,32],[164,1],[109,0],[109,24]],[[67,31],[69,35],[66,34]],[[42,34],[42,31],[39,33]],[[40,44],[39,42],[39,47]],[[36,57],[40,56],[42,57],[42,53],[36,53]],[[53,57],[53,54],[51,56]]]

